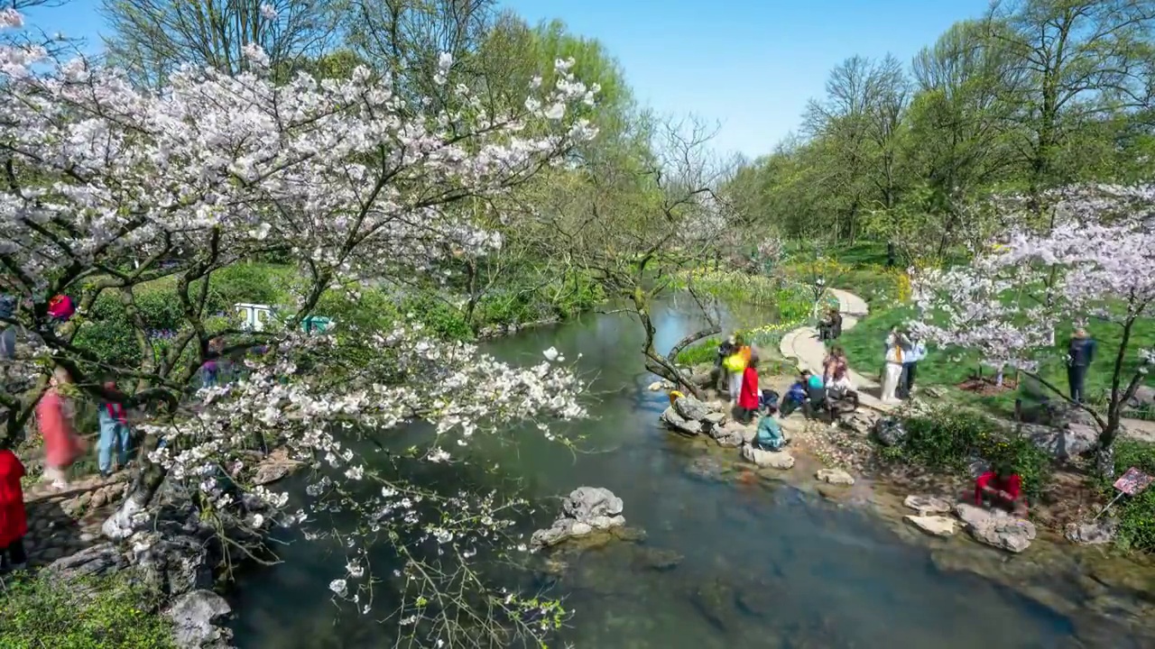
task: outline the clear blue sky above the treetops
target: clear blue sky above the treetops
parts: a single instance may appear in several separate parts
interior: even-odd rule
[[[797,129],[827,73],[854,54],[902,61],[988,0],[505,0],[530,22],[561,18],[598,38],[638,98],[721,122],[715,147],[754,157]],[[45,31],[95,36],[96,0],[32,16]]]

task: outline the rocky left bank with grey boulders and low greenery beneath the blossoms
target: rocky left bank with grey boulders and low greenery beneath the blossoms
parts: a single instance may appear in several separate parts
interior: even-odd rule
[[[33,471],[24,488],[28,568],[5,577],[10,596],[8,612],[0,613],[5,647],[31,648],[25,643],[33,640],[77,646],[92,636],[107,642],[99,647],[231,647],[232,607],[222,594],[232,570],[266,557],[263,535],[274,510],[243,497],[232,509],[206,516],[192,493],[166,483],[132,534],[109,539],[102,527],[128,493],[128,471],[54,488],[35,482],[36,462],[28,464]],[[254,458],[244,479],[268,484],[296,467],[273,453]],[[76,618],[76,611],[90,616]]]

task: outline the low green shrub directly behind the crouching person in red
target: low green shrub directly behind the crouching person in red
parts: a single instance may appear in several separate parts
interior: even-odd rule
[[[1050,480],[1051,457],[1026,437],[996,427],[989,417],[963,408],[939,408],[906,418],[907,437],[892,460],[936,470],[966,471],[979,457],[991,465],[1007,463],[1022,478],[1028,497],[1036,497]]]

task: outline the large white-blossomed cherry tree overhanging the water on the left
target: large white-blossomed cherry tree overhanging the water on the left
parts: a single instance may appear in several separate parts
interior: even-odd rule
[[[20,15],[0,12],[5,27],[18,29]],[[597,89],[559,60],[554,84],[535,80],[521,106],[494,111],[455,81],[442,55],[435,82],[452,100],[424,106],[454,109],[434,111],[366,68],[274,83],[253,45],[245,72],[186,67],[162,91],[45,54],[30,44],[0,47],[0,267],[3,289],[21,298],[6,323],[29,333],[40,389],[47,368],[62,366],[82,391],[122,397],[148,416],[132,490],[105,534],[134,534],[167,480],[199,494],[202,516],[255,499],[278,514],[248,516],[254,530],[275,520],[335,537],[348,566],[334,575],[333,596],[366,616],[383,602],[398,646],[507,647],[514,635],[556,628],[564,614],[556,603],[498,594],[475,564],[521,560],[516,539],[505,540],[526,503],[446,493],[415,476],[455,463],[450,449],[477,435],[524,430],[520,422],[560,439],[551,420],[584,416],[582,381],[564,358],[551,352],[513,367],[404,322],[392,331],[295,331],[327,291],[357,299],[360,281],[430,273],[446,251],[498,248],[500,237],[454,206],[565,164],[595,135],[574,107],[593,103]],[[304,278],[283,330],[246,331],[207,312],[214,273],[268,253],[293,260]],[[164,346],[144,335],[134,306],[135,291],[157,279],[172,282],[185,319]],[[47,313],[60,293],[80,296],[66,323]],[[139,324],[140,366],[110,364],[76,343],[97,298],[110,293]],[[258,345],[246,378],[192,394],[204,363]],[[127,394],[110,394],[109,376]],[[39,394],[0,395],[0,442],[17,440]],[[398,428],[416,422],[431,425],[429,434],[395,448]],[[254,440],[313,468],[304,501],[243,484]],[[341,516],[346,522],[334,528]],[[368,560],[381,544],[397,560],[392,575],[374,574]]]

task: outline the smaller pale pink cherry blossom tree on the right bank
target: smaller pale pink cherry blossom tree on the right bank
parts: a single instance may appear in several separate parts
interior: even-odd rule
[[[1140,321],[1155,316],[1155,187],[1074,186],[1050,196],[1056,216],[1045,230],[1020,230],[991,241],[969,266],[916,277],[917,329],[993,367],[1018,368],[1070,401],[1064,386],[1040,375],[1048,360],[1065,355],[1056,330],[1117,328],[1105,410],[1076,404],[1100,428],[1100,469],[1109,473],[1123,409],[1153,359],[1134,337]]]

